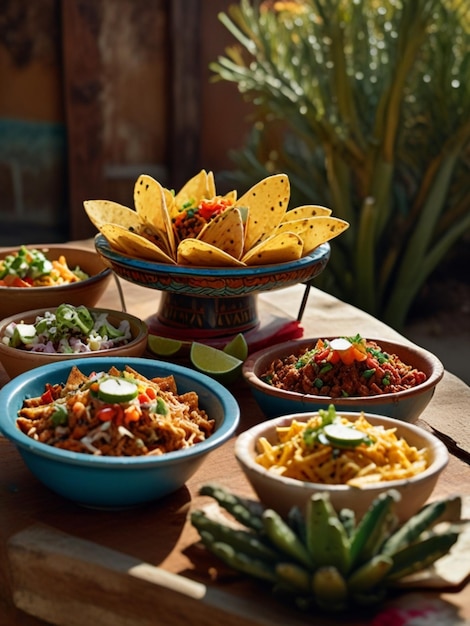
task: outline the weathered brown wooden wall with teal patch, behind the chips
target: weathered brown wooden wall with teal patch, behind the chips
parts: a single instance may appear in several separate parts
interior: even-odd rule
[[[208,65],[228,0],[0,1],[0,245],[91,236],[83,200],[132,206],[230,168],[249,108]],[[231,43],[231,42],[230,42]]]

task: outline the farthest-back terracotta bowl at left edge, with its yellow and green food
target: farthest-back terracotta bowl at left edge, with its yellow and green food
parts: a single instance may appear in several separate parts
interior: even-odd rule
[[[45,303],[95,306],[111,278],[111,269],[95,250],[67,245],[2,249],[2,316],[39,309]]]

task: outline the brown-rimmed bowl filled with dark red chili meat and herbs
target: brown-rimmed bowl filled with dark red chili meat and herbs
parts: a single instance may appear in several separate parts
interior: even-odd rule
[[[248,356],[243,376],[267,418],[330,404],[415,422],[444,367],[411,343],[353,337],[305,338]]]

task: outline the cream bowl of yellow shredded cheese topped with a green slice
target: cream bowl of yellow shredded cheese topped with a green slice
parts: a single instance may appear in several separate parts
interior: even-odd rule
[[[415,424],[334,405],[257,424],[238,436],[235,455],[260,500],[282,513],[326,491],[337,510],[360,517],[394,489],[401,519],[426,502],[448,463],[445,445]]]

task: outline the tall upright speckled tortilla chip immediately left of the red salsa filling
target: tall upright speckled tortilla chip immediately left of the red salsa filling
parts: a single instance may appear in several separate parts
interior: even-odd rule
[[[166,204],[163,187],[151,176],[141,174],[134,185],[134,204],[137,214],[159,236],[159,244],[174,257],[176,254],[175,237],[171,226],[170,214]]]

